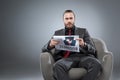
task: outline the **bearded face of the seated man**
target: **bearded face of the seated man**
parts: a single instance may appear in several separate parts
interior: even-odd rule
[[[68,12],[64,14],[64,25],[67,28],[72,28],[75,22],[75,17],[72,12]]]

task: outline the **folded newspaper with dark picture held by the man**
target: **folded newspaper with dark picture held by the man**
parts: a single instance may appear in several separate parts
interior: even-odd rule
[[[55,48],[58,50],[79,52],[79,41],[76,40],[77,38],[79,38],[78,35],[53,36],[54,40],[60,41],[59,44],[55,46]]]

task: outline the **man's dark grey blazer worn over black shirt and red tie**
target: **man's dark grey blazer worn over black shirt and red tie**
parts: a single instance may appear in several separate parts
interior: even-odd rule
[[[55,31],[54,35],[65,35],[65,29]],[[85,54],[86,56],[97,57],[96,48],[87,29],[75,27],[75,35],[79,35],[79,38],[83,38],[86,43],[85,47],[80,48],[80,53]],[[53,48],[49,48],[49,43],[50,41],[42,48],[42,52],[51,52],[51,49]],[[55,49],[55,53],[53,55],[54,59],[61,59],[63,57],[63,53],[64,51]]]

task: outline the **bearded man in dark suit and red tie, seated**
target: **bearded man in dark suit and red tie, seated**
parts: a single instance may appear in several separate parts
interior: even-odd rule
[[[63,14],[65,28],[55,31],[54,35],[79,35],[80,52],[70,52],[55,49],[53,55],[55,64],[53,66],[53,77],[55,80],[70,80],[68,71],[73,67],[83,67],[87,74],[80,80],[96,80],[101,64],[96,56],[95,46],[85,28],[75,26],[75,14],[72,10],[66,10]],[[50,52],[59,41],[51,39],[42,49]]]

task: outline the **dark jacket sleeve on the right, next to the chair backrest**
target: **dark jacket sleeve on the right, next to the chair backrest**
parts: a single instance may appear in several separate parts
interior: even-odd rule
[[[85,42],[85,46],[82,48],[88,55],[89,54],[92,54],[94,55],[95,57],[97,57],[97,54],[96,54],[96,48],[95,48],[95,45],[94,45],[94,42],[92,41],[88,31],[85,29],[85,32],[84,32],[84,36],[83,36],[83,40]]]

